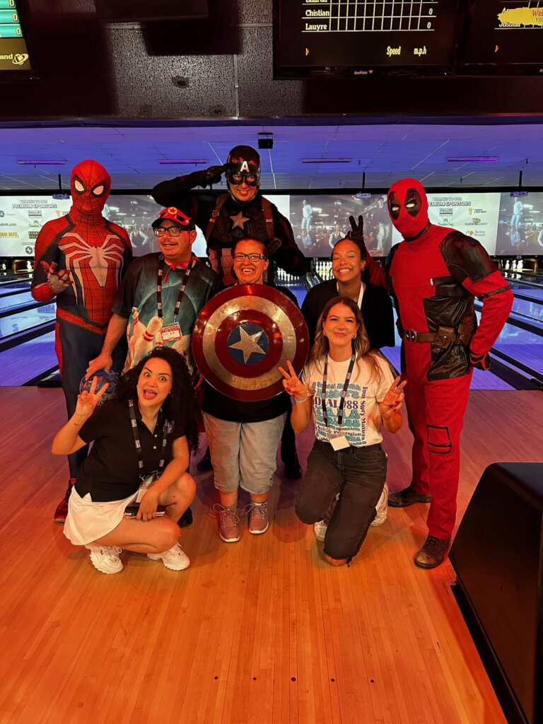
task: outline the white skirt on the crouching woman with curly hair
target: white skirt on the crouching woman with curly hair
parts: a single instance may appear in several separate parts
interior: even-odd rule
[[[125,517],[125,508],[138,497],[138,491],[124,500],[93,502],[90,493],[85,497],[72,487],[68,502],[68,514],[64,523],[64,535],[74,545],[86,545],[106,536],[117,528]]]

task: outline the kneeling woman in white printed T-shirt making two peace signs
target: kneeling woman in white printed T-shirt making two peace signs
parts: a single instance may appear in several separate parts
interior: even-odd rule
[[[281,371],[296,403],[292,427],[303,432],[313,413],[316,432],[296,513],[303,523],[316,523],[339,493],[324,557],[342,565],[358,553],[375,518],[387,478],[379,428],[397,432],[402,426],[405,382],[393,380],[387,361],[369,351],[361,311],[345,297],[324,307],[301,381],[288,367]]]

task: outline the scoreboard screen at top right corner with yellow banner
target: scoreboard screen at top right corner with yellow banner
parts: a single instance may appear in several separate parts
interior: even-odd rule
[[[463,64],[497,75],[543,75],[543,0],[478,0]]]

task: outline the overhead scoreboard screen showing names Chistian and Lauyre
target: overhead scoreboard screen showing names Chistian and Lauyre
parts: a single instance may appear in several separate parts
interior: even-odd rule
[[[458,0],[274,0],[274,76],[445,71],[457,20]]]

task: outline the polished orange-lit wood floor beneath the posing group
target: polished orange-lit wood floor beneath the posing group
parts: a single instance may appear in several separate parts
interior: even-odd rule
[[[501,724],[450,584],[421,571],[424,506],[389,510],[350,568],[331,568],[282,479],[263,536],[216,533],[212,478],[199,474],[187,571],[123,553],[98,573],[53,511],[67,481],[49,453],[59,390],[4,387],[1,724]],[[459,518],[484,468],[536,460],[539,392],[476,391],[463,434]],[[386,439],[389,481],[410,480],[407,426]],[[311,436],[299,439],[305,462]],[[474,555],[476,552],[474,551]]]

